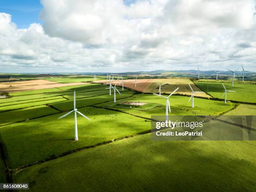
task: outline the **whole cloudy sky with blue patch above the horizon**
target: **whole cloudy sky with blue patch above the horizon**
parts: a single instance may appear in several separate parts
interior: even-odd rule
[[[0,1],[0,73],[241,64],[256,71],[256,0]]]

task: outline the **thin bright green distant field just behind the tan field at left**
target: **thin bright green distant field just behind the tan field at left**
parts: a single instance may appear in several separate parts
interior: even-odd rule
[[[74,83],[74,82],[87,82],[93,81],[94,76],[77,76],[77,77],[50,77],[45,80],[58,82],[58,83]],[[97,76],[97,80],[105,80],[105,76]]]

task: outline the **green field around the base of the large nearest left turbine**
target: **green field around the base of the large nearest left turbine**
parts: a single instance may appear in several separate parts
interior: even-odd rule
[[[74,115],[58,120],[64,113],[1,127],[9,165],[17,168],[52,155],[150,129],[150,122],[125,113],[93,107],[79,108],[79,111],[92,121],[78,116],[77,142],[73,140]]]

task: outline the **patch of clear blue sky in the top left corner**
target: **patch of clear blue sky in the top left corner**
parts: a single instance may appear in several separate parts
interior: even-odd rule
[[[1,0],[0,12],[12,15],[18,28],[27,28],[31,23],[42,23],[38,14],[42,9],[40,0]]]

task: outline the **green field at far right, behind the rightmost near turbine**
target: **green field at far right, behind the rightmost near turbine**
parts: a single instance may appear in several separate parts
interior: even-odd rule
[[[200,87],[201,90],[207,92],[208,84],[208,93],[212,97],[220,98],[224,93],[224,88],[222,83],[217,82],[195,82],[197,87]],[[223,83],[227,90],[232,90],[236,92],[228,92],[227,100],[241,101],[241,102],[251,102],[256,103],[256,84],[242,84],[234,83],[234,86],[231,87],[231,83]]]

